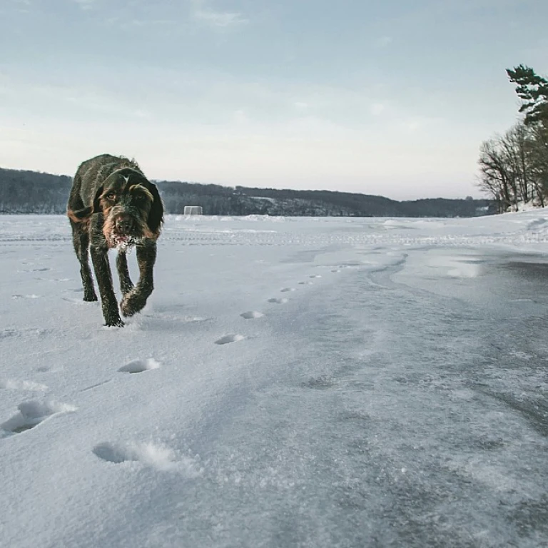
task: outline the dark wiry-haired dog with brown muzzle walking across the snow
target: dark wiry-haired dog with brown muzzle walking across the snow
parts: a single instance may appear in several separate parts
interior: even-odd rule
[[[102,154],[81,164],[74,176],[67,215],[74,250],[80,261],[83,300],[97,300],[88,261],[88,248],[101,294],[106,325],[123,326],[112,286],[108,250],[118,249],[116,266],[123,294],[124,316],[139,312],[153,286],[156,240],[163,224],[158,189],[143,175],[136,161]],[[139,280],[129,277],[126,250],[135,245]]]

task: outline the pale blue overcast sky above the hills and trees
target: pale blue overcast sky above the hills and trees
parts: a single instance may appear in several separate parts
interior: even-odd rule
[[[546,0],[0,0],[0,166],[481,196],[517,120],[504,69],[548,73]]]

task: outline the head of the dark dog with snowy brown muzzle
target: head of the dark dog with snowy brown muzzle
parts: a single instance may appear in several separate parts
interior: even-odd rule
[[[109,248],[156,240],[163,223],[156,185],[132,168],[119,169],[103,181],[93,200],[93,213],[103,213],[103,234]]]

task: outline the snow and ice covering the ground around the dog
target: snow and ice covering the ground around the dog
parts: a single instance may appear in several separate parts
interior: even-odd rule
[[[0,253],[2,547],[548,544],[542,210],[168,216],[123,329],[66,218]]]

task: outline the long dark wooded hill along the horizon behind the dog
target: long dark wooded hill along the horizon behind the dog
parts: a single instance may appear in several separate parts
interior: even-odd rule
[[[0,213],[65,213],[71,183],[65,175],[0,168]],[[475,217],[495,213],[492,201],[472,198],[398,202],[347,192],[155,183],[168,213],[183,213],[185,205],[201,205],[204,215]]]

